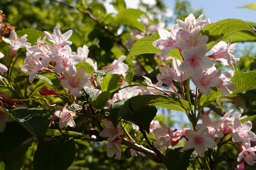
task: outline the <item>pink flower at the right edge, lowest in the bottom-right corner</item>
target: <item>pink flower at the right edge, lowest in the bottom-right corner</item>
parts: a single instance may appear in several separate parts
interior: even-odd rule
[[[256,151],[256,146],[241,146],[241,149],[242,152],[238,154],[237,161],[240,162],[242,159],[244,159],[248,165],[254,165],[256,162],[256,154],[254,153]]]

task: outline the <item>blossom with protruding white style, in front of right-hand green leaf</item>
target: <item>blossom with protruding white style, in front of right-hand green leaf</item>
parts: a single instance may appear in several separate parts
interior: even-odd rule
[[[226,96],[230,96],[233,90],[236,89],[235,83],[230,81],[234,75],[234,71],[225,71],[221,74],[221,70],[217,72],[217,76],[220,78],[220,84],[217,86],[220,92]]]

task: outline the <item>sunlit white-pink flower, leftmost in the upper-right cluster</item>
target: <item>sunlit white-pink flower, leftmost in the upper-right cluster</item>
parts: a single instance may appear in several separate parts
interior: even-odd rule
[[[179,26],[175,24],[171,31],[158,30],[160,38],[153,42],[154,47],[161,49],[161,56],[165,56],[179,45]]]

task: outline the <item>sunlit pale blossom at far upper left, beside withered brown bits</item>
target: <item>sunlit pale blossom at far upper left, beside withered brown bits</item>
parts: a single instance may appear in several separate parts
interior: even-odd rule
[[[2,37],[4,42],[9,43],[11,45],[12,51],[17,51],[19,48],[28,47],[31,45],[30,43],[26,42],[28,39],[26,38],[28,35],[25,34],[22,37],[18,37],[15,31],[12,31],[10,34],[10,38]]]

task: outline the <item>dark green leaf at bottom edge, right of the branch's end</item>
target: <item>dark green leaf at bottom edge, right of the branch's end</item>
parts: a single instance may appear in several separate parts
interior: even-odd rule
[[[187,170],[198,155],[194,149],[182,150],[183,146],[171,147],[165,151],[167,160],[165,166],[168,170]]]

